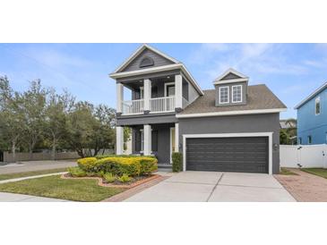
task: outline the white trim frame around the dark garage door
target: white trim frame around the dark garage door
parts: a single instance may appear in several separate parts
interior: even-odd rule
[[[230,138],[230,137],[268,137],[268,173],[272,174],[272,131],[240,132],[240,133],[207,133],[183,135],[183,171],[186,171],[186,139],[189,138]]]

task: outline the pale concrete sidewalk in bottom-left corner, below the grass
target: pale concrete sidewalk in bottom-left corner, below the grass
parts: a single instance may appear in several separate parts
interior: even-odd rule
[[[30,195],[0,192],[0,202],[68,202],[64,199],[49,199]]]

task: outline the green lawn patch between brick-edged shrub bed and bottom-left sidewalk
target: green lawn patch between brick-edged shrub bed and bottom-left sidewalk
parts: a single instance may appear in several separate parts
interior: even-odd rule
[[[121,188],[102,187],[97,180],[61,179],[59,175],[0,184],[0,192],[12,192],[54,199],[100,201],[122,191]]]

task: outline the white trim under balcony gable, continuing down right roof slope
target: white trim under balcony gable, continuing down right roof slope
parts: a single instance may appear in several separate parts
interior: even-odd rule
[[[191,73],[187,71],[187,69],[183,63],[173,63],[173,64],[161,65],[161,66],[157,66],[157,67],[151,67],[151,68],[146,68],[146,69],[141,69],[141,70],[136,70],[136,71],[131,71],[131,72],[114,72],[114,73],[109,74],[109,77],[112,79],[118,79],[118,78],[125,78],[125,77],[129,77],[129,76],[133,76],[133,75],[143,75],[143,74],[147,74],[149,72],[166,72],[166,71],[171,71],[174,69],[181,69],[182,72],[185,73],[186,79],[191,81],[192,85],[198,91],[198,93],[200,95],[204,95],[202,89],[197,84],[196,80],[194,80]]]

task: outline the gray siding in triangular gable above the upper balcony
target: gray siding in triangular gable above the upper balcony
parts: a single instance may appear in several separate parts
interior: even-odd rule
[[[173,62],[169,61],[168,59],[166,59],[165,57],[158,55],[156,53],[153,53],[149,49],[145,49],[140,55],[136,56],[133,59],[133,61],[131,63],[129,63],[125,67],[125,69],[121,72],[131,72],[131,71],[140,70],[143,68],[149,68],[149,67],[143,67],[143,68],[139,67],[142,59],[146,56],[150,57],[153,60],[153,62],[154,62],[153,66],[162,66],[162,65],[167,65],[167,64],[173,63]]]

